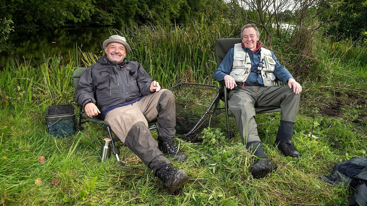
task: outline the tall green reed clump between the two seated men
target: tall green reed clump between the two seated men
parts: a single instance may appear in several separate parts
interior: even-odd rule
[[[127,38],[131,53],[128,60],[137,61],[148,74],[166,87],[180,82],[212,84],[212,73],[217,69],[215,40],[237,37],[233,30],[239,26],[218,23],[208,26],[205,19],[192,21],[185,27],[135,26],[115,30]],[[91,65],[96,56],[83,53],[84,65]]]

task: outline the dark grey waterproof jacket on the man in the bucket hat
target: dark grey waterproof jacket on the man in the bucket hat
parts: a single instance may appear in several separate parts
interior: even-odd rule
[[[93,102],[101,113],[109,106],[149,95],[152,78],[138,62],[119,64],[107,56],[100,57],[80,76],[76,85],[76,102],[81,106]]]

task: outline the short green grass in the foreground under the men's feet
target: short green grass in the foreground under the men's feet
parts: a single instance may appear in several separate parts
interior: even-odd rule
[[[265,152],[278,166],[275,172],[253,179],[248,173],[253,158],[238,135],[227,139],[222,128],[208,128],[204,144],[176,139],[188,160],[174,166],[185,170],[190,181],[178,194],[169,195],[127,147],[119,144],[120,158],[128,165],[117,165],[114,157],[100,162],[102,139],[107,137],[100,126],[86,125],[74,136],[58,139],[47,133],[44,108],[8,106],[0,114],[3,205],[347,205],[353,190],[327,184],[319,175],[329,174],[337,162],[366,157],[363,128],[341,125],[353,142],[345,149],[359,151],[346,155],[331,144],[330,137],[338,132],[308,136],[312,118],[301,112],[294,143],[302,158],[285,158],[273,147],[279,114],[262,114],[257,117],[259,133]],[[40,156],[46,158],[44,164],[37,161]],[[40,185],[34,183],[37,178],[42,179]],[[55,178],[60,183],[51,187]]]

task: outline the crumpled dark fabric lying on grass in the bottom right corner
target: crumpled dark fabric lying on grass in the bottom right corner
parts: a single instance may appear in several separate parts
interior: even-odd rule
[[[321,178],[331,184],[358,186],[349,205],[367,206],[367,158],[352,158],[337,163],[329,176],[323,175]]]

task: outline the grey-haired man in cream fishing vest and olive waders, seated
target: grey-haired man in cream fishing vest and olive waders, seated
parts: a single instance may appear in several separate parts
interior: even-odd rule
[[[280,106],[280,126],[275,145],[284,155],[299,158],[301,154],[292,143],[293,127],[298,112],[301,85],[278,62],[274,52],[262,48],[256,25],[241,29],[242,43],[235,44],[214,72],[217,81],[224,80],[230,89],[228,107],[235,116],[242,143],[257,156],[250,169],[254,178],[262,178],[276,166],[262,149],[255,122],[255,106]],[[275,79],[283,82],[276,87]],[[284,83],[288,82],[288,85]]]

